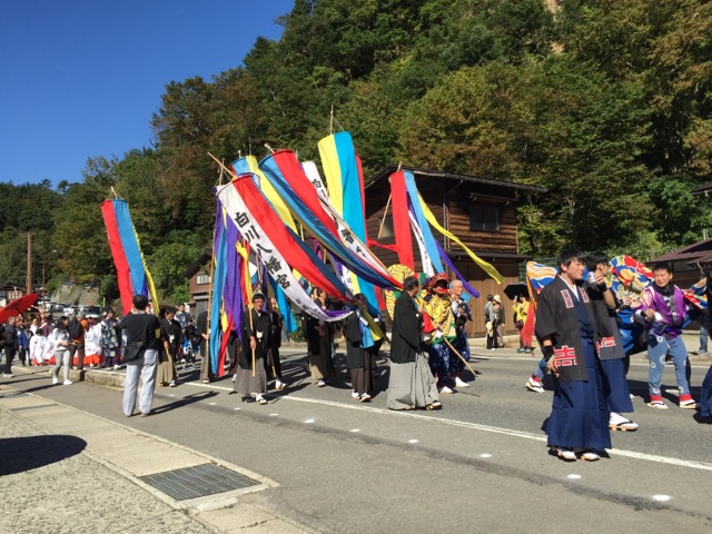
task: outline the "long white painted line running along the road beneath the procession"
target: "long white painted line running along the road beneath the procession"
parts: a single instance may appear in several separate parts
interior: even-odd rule
[[[222,390],[227,390],[227,392],[231,392],[233,390],[231,388],[228,388],[228,387],[211,386],[209,384],[187,383],[186,385],[198,386],[198,387],[209,387],[209,388],[222,389]],[[535,441],[535,442],[546,442],[546,436],[542,436],[540,434],[532,434],[530,432],[514,431],[514,429],[511,429],[511,428],[500,428],[497,426],[479,425],[477,423],[467,423],[465,421],[448,419],[448,418],[444,418],[444,417],[433,417],[433,416],[428,416],[428,415],[421,415],[421,414],[417,414],[417,413],[413,413],[411,411],[408,411],[408,412],[394,412],[394,411],[390,411],[390,409],[369,407],[369,406],[364,406],[364,405],[360,405],[360,404],[359,405],[344,404],[344,403],[337,403],[337,402],[334,402],[334,400],[323,400],[323,399],[317,399],[317,398],[300,398],[300,397],[291,397],[291,396],[288,396],[288,395],[279,397],[279,399],[280,400],[293,400],[293,402],[297,402],[297,403],[320,404],[323,406],[333,406],[333,407],[336,407],[336,408],[357,409],[359,412],[370,412],[370,413],[376,413],[376,414],[382,414],[382,415],[388,415],[388,416],[392,416],[392,417],[411,417],[411,418],[423,421],[423,422],[438,423],[441,425],[457,426],[457,427],[461,427],[461,428],[471,428],[473,431],[492,432],[494,434],[504,434],[506,436],[521,437],[521,438],[524,438],[524,439],[532,439],[532,441]],[[310,421],[310,423],[314,423],[314,421]],[[655,462],[655,463],[659,463],[659,464],[676,465],[679,467],[688,467],[688,468],[691,468],[691,469],[712,471],[712,464],[711,463],[696,462],[696,461],[693,461],[693,459],[673,458],[673,457],[670,457],[670,456],[660,456],[660,455],[656,455],[656,454],[637,453],[635,451],[625,451],[623,448],[611,449],[611,455],[612,456],[626,456],[629,458],[642,459],[642,461],[645,461],[645,462]]]

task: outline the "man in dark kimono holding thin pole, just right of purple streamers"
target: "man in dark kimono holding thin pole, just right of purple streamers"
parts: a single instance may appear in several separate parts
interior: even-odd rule
[[[253,295],[253,305],[243,317],[243,350],[237,355],[237,376],[234,392],[243,395],[243,400],[267,404],[267,373],[265,358],[269,350],[271,324],[264,309],[265,296]]]

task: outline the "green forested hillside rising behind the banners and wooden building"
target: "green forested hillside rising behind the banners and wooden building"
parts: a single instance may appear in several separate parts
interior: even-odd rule
[[[31,230],[53,280],[113,296],[99,210],[113,187],[162,296],[186,298],[179,275],[211,239],[207,152],[318,161],[332,108],[366,177],[402,161],[545,187],[520,207],[521,253],[645,260],[712,228],[690,195],[712,179],[709,1],[296,0],[280,23],[234,69],[168,83],[152,148],[56,189],[0,184],[0,280],[24,279]]]

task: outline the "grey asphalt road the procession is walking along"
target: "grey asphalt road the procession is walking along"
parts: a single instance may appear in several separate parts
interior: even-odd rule
[[[678,408],[672,367],[670,409],[656,411],[644,404],[646,365],[634,357],[640,431],[614,433],[600,462],[564,463],[543,432],[551,390],[524,387],[536,359],[474,353],[477,379],[443,396],[441,412],[387,411],[385,360],[370,403],[353,400],[340,379],[317,388],[303,349],[284,352],[290,387],[266,406],[229,395],[229,378],[202,385],[197,373],[158,389],[148,418],[123,418],[115,389],[52,387],[41,375],[17,375],[13,386],[275,479],[279,487],[245,501],[320,532],[712,532],[712,425]],[[708,367],[693,367],[693,396]]]

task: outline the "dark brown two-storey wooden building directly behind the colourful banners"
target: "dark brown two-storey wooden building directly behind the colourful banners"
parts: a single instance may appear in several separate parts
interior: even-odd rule
[[[457,236],[479,258],[492,264],[504,277],[504,281],[497,284],[459,245],[433,230],[455,268],[481,294],[478,299],[472,299],[469,303],[473,320],[467,323],[468,336],[483,336],[485,333],[484,305],[487,295],[501,296],[505,309],[505,330],[510,334],[516,333],[512,319],[513,303],[504,295],[504,288],[507,284],[520,281],[520,264],[531,259],[521,255],[518,250],[516,207],[525,196],[538,195],[545,190],[535,186],[439,170],[413,167],[402,169],[413,172],[421,196],[441,226]],[[394,244],[392,212],[390,209],[388,212],[385,210],[390,196],[388,177],[396,170],[396,165],[388,165],[365,186],[367,233],[369,238],[383,245]],[[415,239],[413,246],[415,268],[419,270],[422,265]],[[372,249],[386,266],[398,263],[394,251],[379,247]]]

